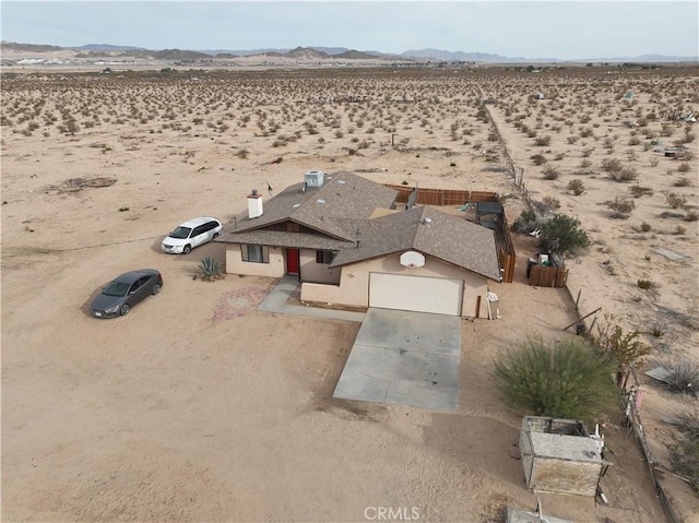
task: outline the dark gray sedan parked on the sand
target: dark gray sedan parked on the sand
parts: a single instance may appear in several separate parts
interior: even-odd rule
[[[158,294],[163,276],[155,269],[126,272],[102,289],[92,304],[90,313],[95,318],[126,316],[131,307],[146,296]]]

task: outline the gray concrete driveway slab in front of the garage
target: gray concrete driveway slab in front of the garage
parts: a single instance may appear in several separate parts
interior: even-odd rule
[[[455,411],[461,318],[370,308],[333,397]]]

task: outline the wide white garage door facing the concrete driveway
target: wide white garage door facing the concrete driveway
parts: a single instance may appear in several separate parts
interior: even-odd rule
[[[369,307],[461,316],[462,280],[371,273]]]

